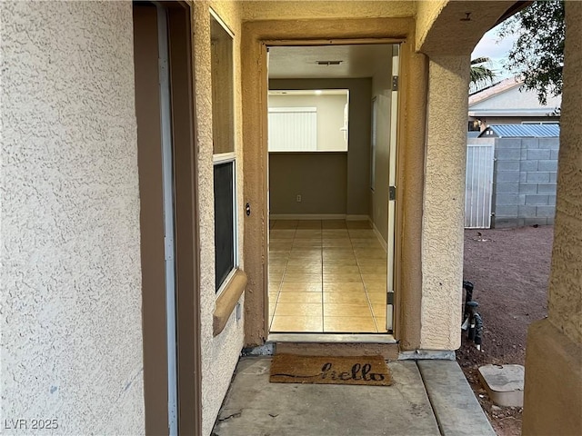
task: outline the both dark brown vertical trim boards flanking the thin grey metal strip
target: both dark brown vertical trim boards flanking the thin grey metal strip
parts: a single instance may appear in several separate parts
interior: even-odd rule
[[[190,6],[167,13],[176,220],[176,372],[178,431],[202,431],[200,267],[195,93]],[[166,282],[162,151],[157,64],[157,11],[134,4],[135,112],[141,202],[146,434],[168,434]]]

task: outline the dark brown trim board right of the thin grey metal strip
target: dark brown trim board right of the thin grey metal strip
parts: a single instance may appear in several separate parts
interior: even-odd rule
[[[164,4],[168,10],[170,88],[176,204],[176,323],[178,431],[202,432],[200,358],[200,265],[194,59],[190,6]]]

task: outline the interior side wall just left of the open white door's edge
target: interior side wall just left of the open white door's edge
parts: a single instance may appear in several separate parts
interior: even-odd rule
[[[392,58],[378,63],[372,77],[372,98],[376,98],[376,183],[372,194],[372,222],[384,242],[388,237],[388,168],[390,159],[390,107],[392,104]],[[370,102],[372,105],[372,102]]]

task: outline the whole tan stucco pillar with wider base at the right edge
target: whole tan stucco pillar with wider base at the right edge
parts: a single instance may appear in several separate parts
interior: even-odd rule
[[[582,434],[582,4],[566,2],[562,129],[547,320],[527,333],[524,435]]]

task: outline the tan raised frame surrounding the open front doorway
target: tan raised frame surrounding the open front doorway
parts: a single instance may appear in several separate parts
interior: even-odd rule
[[[267,45],[346,45],[346,44],[399,44],[403,47],[401,67],[406,72],[420,74],[414,86],[409,78],[398,105],[398,186],[396,203],[395,288],[396,339],[404,340],[407,347],[419,347],[420,305],[422,274],[420,268],[422,230],[422,193],[424,179],[418,167],[424,164],[426,111],[410,111],[411,107],[426,107],[427,63],[424,54],[415,53],[414,20],[410,18],[370,18],[281,20],[276,22],[247,22],[244,24],[241,49],[243,87],[243,138],[245,144],[245,197],[253,213],[246,217],[245,265],[249,276],[246,287],[246,346],[266,342],[268,333],[267,304]],[[416,77],[415,77],[416,78]],[[407,110],[408,109],[408,110]],[[407,114],[405,117],[404,114]],[[406,159],[405,159],[406,158]],[[422,166],[421,166],[422,167]],[[412,194],[406,203],[404,192]],[[402,208],[405,210],[402,211]],[[406,210],[407,209],[407,210]],[[414,219],[403,226],[404,213]],[[406,262],[402,262],[406,261]],[[406,318],[406,320],[405,320]],[[402,322],[404,320],[404,322]],[[405,327],[405,328],[402,328]]]

